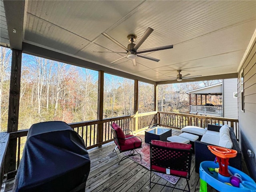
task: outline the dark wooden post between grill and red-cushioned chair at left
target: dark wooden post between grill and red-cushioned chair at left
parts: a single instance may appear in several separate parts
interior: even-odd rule
[[[98,112],[97,119],[103,119],[103,93],[104,93],[104,71],[99,71],[98,74]],[[103,123],[98,124],[97,143],[103,142]],[[101,147],[98,146],[98,147]]]

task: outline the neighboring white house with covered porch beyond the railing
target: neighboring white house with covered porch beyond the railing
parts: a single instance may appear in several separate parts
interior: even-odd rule
[[[238,118],[237,79],[224,79],[222,83],[206,86],[186,92],[190,95],[190,114],[219,116],[224,118]],[[191,105],[191,94],[196,94],[196,105]],[[197,95],[201,96],[200,104],[197,103]],[[220,95],[222,105],[212,106],[202,104],[202,96]]]

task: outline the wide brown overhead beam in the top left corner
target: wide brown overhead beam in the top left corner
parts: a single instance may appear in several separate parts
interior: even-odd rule
[[[25,0],[4,0],[10,48],[22,50]]]

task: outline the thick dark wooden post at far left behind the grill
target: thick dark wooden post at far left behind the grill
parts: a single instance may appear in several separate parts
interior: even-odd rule
[[[12,66],[10,77],[10,96],[8,111],[7,132],[18,131],[19,106],[20,106],[20,75],[21,75],[22,51],[12,50]],[[5,170],[10,172],[16,170],[17,138],[10,139],[5,156]]]

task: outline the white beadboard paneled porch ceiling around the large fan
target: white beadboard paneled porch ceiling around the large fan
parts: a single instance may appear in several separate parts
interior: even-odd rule
[[[111,63],[126,54],[95,52],[126,52],[104,32],[126,47],[128,34],[137,35],[136,44],[148,27],[154,31],[138,50],[174,46],[144,53],[159,62]],[[256,1],[26,0],[22,41],[158,82],[176,70],[236,73],[255,29]]]

